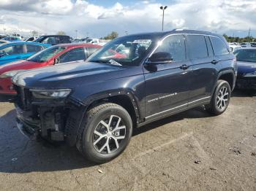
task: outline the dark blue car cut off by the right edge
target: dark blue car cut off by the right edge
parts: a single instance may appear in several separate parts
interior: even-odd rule
[[[241,48],[234,52],[238,64],[236,87],[256,90],[256,48]]]

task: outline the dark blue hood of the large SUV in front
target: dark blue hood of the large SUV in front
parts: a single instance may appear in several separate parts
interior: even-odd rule
[[[24,87],[72,88],[81,83],[118,78],[118,71],[124,71],[125,68],[105,63],[67,63],[18,73],[12,78],[12,82]],[[124,74],[121,77],[123,76]]]

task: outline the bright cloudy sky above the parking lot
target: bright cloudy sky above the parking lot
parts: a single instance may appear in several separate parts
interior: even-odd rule
[[[0,34],[64,31],[72,37],[197,29],[256,36],[256,0],[0,0]],[[77,32],[76,32],[77,31]]]

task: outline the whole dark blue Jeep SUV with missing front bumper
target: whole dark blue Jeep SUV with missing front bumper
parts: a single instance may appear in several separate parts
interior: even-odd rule
[[[87,63],[13,77],[18,128],[31,138],[66,141],[104,163],[124,151],[132,128],[200,105],[225,112],[236,74],[236,58],[217,34],[122,36]]]

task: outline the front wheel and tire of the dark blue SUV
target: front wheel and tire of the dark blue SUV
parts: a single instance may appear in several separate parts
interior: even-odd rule
[[[132,119],[123,107],[107,103],[86,113],[77,141],[78,150],[94,163],[106,163],[129,144]]]

